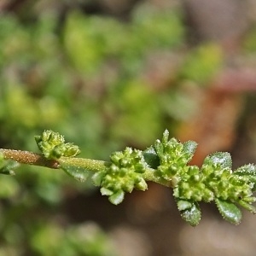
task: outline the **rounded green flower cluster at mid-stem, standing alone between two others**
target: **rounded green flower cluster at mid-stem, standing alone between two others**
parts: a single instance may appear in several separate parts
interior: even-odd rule
[[[147,164],[141,150],[125,148],[110,156],[108,169],[96,172],[92,179],[102,187],[102,195],[108,195],[109,201],[117,205],[123,201],[125,192],[133,189],[146,190],[148,185],[143,178]]]

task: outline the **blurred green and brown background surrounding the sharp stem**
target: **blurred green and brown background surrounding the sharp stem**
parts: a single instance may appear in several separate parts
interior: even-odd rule
[[[34,135],[51,129],[82,157],[108,160],[168,129],[202,143],[196,164],[216,150],[231,151],[235,166],[255,162],[255,10],[228,0],[3,0],[0,147],[36,152]],[[188,227],[172,191],[154,184],[113,207],[91,183],[21,166],[1,176],[0,198],[0,256],[241,255],[239,244],[252,255],[256,240],[254,218],[245,213],[236,230],[214,206]]]

